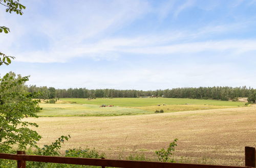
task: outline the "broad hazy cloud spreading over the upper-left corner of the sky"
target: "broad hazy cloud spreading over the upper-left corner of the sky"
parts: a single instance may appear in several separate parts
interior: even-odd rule
[[[1,47],[5,48],[6,53],[16,55],[16,60],[23,62],[65,62],[70,58],[81,56],[80,54],[92,53],[88,51],[80,53],[79,50],[87,41],[107,37],[140,18],[149,9],[148,3],[144,1],[113,1],[111,3],[79,1],[69,4],[54,1],[52,3],[53,6],[47,6],[50,17],[45,15],[45,11],[41,13],[37,11],[39,9],[37,2],[30,2],[27,5],[27,16],[23,16],[25,24],[16,17],[9,21],[6,19],[6,23],[11,28],[16,27],[12,34],[2,35],[4,38],[0,39]],[[2,13],[4,17],[9,16],[3,11]],[[20,23],[19,26],[18,23]],[[27,49],[32,43],[27,42],[28,39],[35,37],[36,34],[47,38],[48,48]],[[26,42],[28,45],[24,48]],[[33,43],[37,43],[36,39]],[[43,42],[38,41],[38,46],[40,43]]]

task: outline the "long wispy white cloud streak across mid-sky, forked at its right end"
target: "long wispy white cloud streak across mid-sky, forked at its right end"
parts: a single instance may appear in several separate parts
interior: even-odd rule
[[[256,40],[201,40],[202,37],[223,34],[241,29],[245,24],[215,25],[201,27],[199,30],[186,32],[165,32],[158,35],[138,37],[104,38],[93,43],[54,40],[48,50],[17,52],[17,61],[22,62],[67,62],[72,58],[83,57],[94,60],[112,60],[121,57],[121,53],[134,54],[174,54],[197,53],[202,51],[242,54],[254,51]],[[195,42],[195,40],[197,42]],[[186,42],[187,41],[187,42]]]

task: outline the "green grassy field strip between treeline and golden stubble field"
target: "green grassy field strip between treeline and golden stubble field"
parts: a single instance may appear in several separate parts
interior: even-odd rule
[[[99,107],[102,104],[114,106]],[[163,109],[164,113],[169,113],[186,110],[230,108],[243,106],[244,103],[177,98],[98,98],[92,100],[63,98],[55,104],[40,103],[39,105],[42,107],[42,110],[37,113],[40,117],[71,117],[143,115],[154,114],[155,110],[160,109]]]

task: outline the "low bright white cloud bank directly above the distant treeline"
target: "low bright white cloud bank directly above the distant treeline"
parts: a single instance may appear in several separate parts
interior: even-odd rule
[[[27,84],[66,89],[86,87],[88,89],[155,90],[177,87],[236,87],[244,85],[255,87],[254,83],[256,82],[251,73],[245,74],[244,71],[236,71],[236,67],[227,63],[210,65],[196,64],[195,62],[179,65],[170,63],[169,66],[161,68],[141,65],[129,70],[89,71],[79,69],[76,73],[72,70],[65,72],[65,75],[62,71],[54,73],[47,71],[46,74],[30,72],[30,74],[31,78]]]

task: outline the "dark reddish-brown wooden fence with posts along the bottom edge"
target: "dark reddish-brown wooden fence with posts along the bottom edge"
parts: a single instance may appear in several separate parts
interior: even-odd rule
[[[186,163],[166,163],[152,161],[132,161],[132,160],[112,160],[112,159],[92,159],[92,158],[75,158],[75,157],[58,157],[58,156],[38,156],[26,155],[24,151],[17,151],[17,154],[0,153],[0,159],[17,160],[18,168],[25,168],[26,161],[50,162],[50,163],[65,163],[65,164],[80,164],[94,165],[101,167],[162,167],[162,168],[231,168],[244,166],[224,166],[224,165],[204,165],[204,164],[186,164]],[[255,148],[245,147],[245,166],[256,167],[255,165]]]

